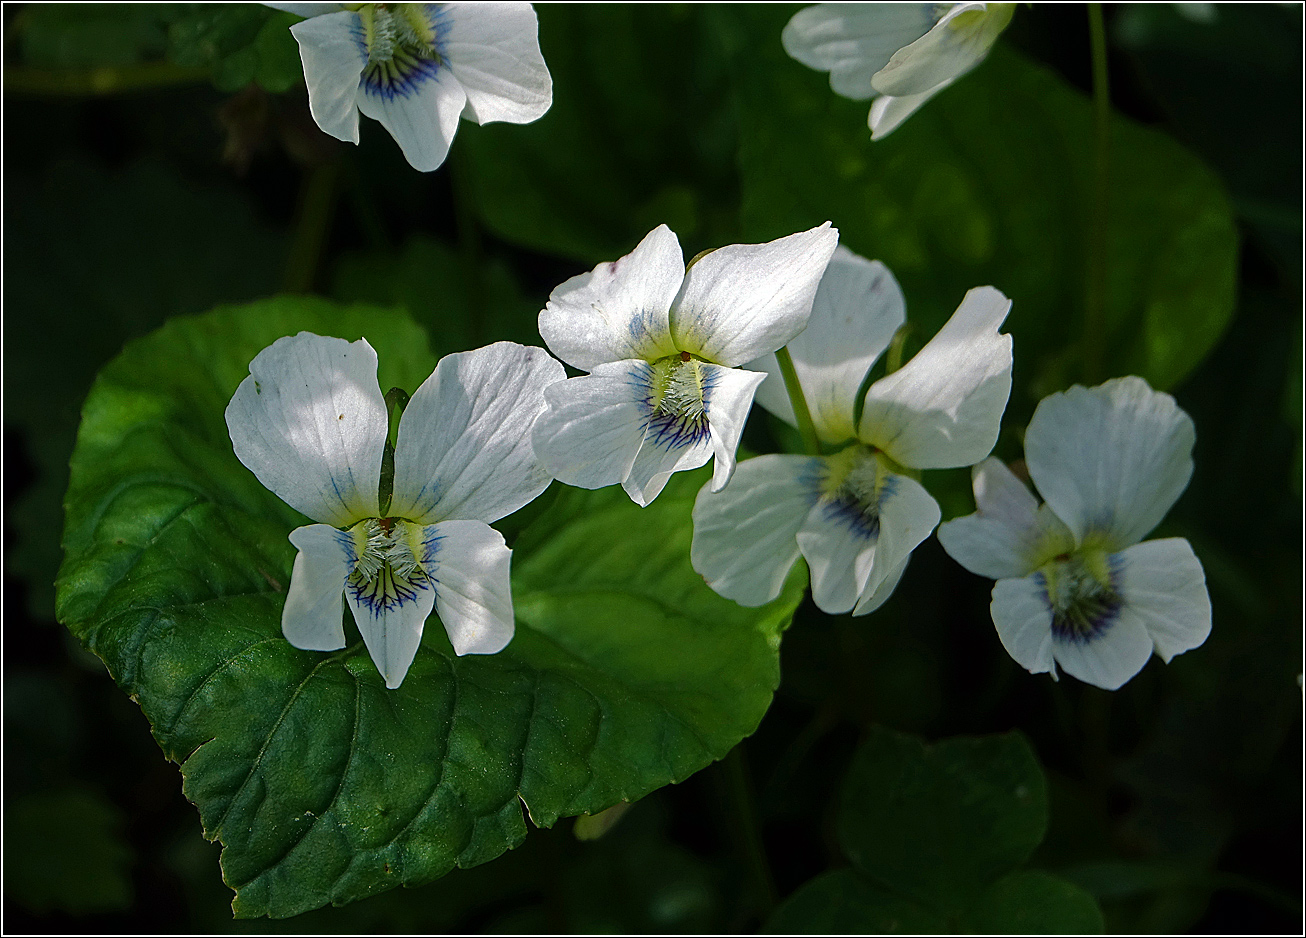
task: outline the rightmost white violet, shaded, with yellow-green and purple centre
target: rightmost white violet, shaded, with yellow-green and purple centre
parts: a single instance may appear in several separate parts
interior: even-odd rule
[[[1192,476],[1192,421],[1141,378],[1043,398],[1025,432],[1029,478],[974,468],[976,506],[940,525],[943,549],[995,579],[998,638],[1032,674],[1057,665],[1115,690],[1211,634],[1202,563],[1181,537],[1143,541]]]

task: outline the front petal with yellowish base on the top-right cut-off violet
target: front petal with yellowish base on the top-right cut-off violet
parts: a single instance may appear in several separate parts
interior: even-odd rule
[[[899,50],[871,86],[882,94],[919,94],[983,61],[1011,22],[1015,4],[955,4],[923,37]]]

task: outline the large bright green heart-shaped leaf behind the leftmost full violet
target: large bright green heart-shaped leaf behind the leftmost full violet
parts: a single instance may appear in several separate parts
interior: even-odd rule
[[[688,563],[703,472],[649,508],[563,491],[520,536],[517,635],[458,658],[432,619],[402,687],[359,641],[281,638],[303,517],[231,452],[223,409],[278,336],[367,334],[381,385],[434,366],[400,314],[276,299],[174,320],[86,401],[59,618],[145,712],[239,916],[289,916],[485,862],[537,824],[679,781],[750,734],[802,593],[744,610]],[[351,623],[349,626],[353,628]]]

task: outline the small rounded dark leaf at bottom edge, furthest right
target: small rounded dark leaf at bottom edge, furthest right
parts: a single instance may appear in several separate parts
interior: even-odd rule
[[[1088,892],[1040,870],[1011,873],[965,914],[978,934],[1101,934],[1102,911]]]

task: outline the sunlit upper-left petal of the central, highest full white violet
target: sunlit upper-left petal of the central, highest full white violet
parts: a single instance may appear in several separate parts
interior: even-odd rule
[[[585,371],[603,362],[674,355],[667,311],[683,280],[680,242],[658,225],[620,260],[556,287],[539,314],[539,334],[550,351]]]

